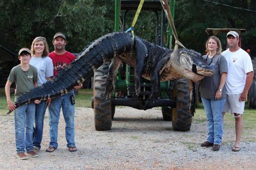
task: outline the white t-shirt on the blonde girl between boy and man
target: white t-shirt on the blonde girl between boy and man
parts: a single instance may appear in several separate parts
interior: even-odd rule
[[[29,64],[37,68],[38,85],[45,83],[46,77],[53,76],[53,60],[50,57],[34,57],[32,56]]]

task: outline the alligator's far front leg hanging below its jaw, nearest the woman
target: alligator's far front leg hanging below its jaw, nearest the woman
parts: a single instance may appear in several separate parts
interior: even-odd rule
[[[190,79],[187,79],[188,88],[190,92],[190,108],[189,112],[191,116],[195,113],[195,102],[196,102],[196,83]]]

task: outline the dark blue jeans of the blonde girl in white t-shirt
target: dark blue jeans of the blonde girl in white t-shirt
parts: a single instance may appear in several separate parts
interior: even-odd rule
[[[34,139],[33,146],[41,148],[43,128],[44,128],[44,115],[47,104],[42,101],[35,105],[35,127],[34,127]]]

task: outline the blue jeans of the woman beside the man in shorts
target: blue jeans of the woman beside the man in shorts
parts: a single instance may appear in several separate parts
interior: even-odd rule
[[[211,100],[202,98],[203,107],[207,117],[208,136],[207,141],[213,144],[221,144],[223,136],[222,111],[225,100]]]

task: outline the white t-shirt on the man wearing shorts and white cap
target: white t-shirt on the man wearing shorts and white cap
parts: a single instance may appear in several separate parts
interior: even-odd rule
[[[243,49],[231,52],[227,49],[221,53],[228,63],[228,76],[226,79],[227,94],[240,94],[243,92],[246,73],[253,72],[250,55]]]

